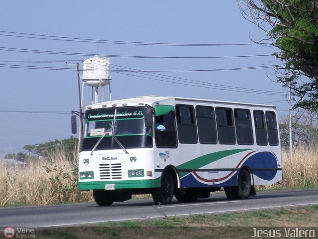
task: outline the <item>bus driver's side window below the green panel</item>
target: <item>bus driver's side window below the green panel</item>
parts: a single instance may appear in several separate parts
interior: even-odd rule
[[[177,136],[173,111],[170,111],[164,115],[156,116],[155,140],[157,147],[168,148],[177,146]]]

